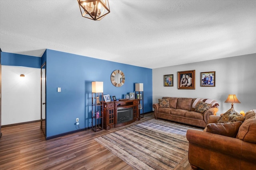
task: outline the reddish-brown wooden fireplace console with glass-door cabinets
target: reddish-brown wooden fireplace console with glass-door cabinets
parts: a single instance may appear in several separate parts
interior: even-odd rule
[[[132,108],[132,120],[123,123],[117,123],[117,113],[119,109]],[[113,127],[120,127],[140,120],[139,100],[117,100],[103,102],[103,128],[108,130]]]

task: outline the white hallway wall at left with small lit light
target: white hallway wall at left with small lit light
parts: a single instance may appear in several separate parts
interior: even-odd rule
[[[40,68],[2,65],[2,125],[41,119],[40,75]]]

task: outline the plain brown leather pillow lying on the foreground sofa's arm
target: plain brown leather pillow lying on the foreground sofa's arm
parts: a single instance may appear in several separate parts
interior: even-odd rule
[[[215,133],[227,137],[236,137],[242,121],[229,123],[209,123],[206,125],[206,132]]]

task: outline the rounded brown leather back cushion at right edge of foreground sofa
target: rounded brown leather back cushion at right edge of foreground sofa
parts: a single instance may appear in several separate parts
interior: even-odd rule
[[[255,132],[256,132],[256,118],[247,119],[240,126],[236,138],[246,141],[246,142],[256,143],[256,133]]]

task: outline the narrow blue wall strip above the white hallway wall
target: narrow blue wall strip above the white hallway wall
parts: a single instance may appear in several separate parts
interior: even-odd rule
[[[41,67],[41,57],[1,52],[1,64],[7,66]]]

